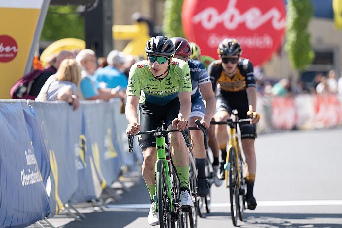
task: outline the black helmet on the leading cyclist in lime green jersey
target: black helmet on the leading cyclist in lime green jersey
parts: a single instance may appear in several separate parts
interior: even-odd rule
[[[161,55],[168,58],[172,58],[176,53],[172,41],[161,35],[151,37],[146,43],[145,51],[148,55]]]

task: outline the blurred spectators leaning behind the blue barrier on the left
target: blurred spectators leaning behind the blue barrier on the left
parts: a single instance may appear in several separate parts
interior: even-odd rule
[[[128,73],[137,61],[139,58],[125,56],[118,50],[100,58],[91,49],[63,50],[58,55],[51,56],[43,70],[30,72],[23,77],[36,74],[28,78],[30,82],[24,90],[21,83],[14,85],[18,88],[13,87],[11,91],[21,91],[36,101],[67,101],[75,110],[80,100],[108,101],[111,98],[120,98],[124,103]],[[18,93],[15,95],[18,97]],[[18,98],[25,96],[21,94]]]

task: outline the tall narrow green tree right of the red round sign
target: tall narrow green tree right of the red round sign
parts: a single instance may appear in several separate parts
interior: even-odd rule
[[[312,16],[311,0],[288,0],[285,50],[289,53],[291,65],[297,70],[311,64],[315,56],[308,32]]]

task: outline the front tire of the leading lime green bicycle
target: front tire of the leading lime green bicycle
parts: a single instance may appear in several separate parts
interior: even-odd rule
[[[166,183],[165,165],[162,160],[157,162],[156,186],[159,226],[160,228],[171,228],[171,210],[167,193],[168,187]]]

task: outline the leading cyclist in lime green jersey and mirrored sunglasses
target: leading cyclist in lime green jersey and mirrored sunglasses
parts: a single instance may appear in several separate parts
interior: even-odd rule
[[[188,128],[191,112],[191,80],[188,64],[172,58],[175,49],[165,36],[152,37],[146,44],[147,60],[131,67],[127,86],[126,118],[127,133],[136,135],[140,130],[155,130],[162,123],[169,128]],[[137,106],[139,105],[140,123]],[[169,125],[169,123],[171,123]],[[158,215],[152,201],[155,192],[156,144],[153,135],[139,135],[139,144],[144,156],[142,175],[150,193],[151,207],[147,221],[158,225]],[[180,206],[193,207],[189,190],[188,148],[180,132],[171,134],[173,163],[180,179]]]

